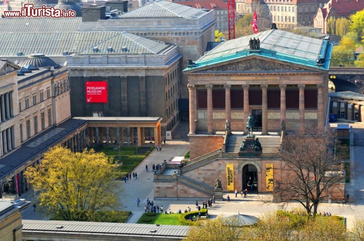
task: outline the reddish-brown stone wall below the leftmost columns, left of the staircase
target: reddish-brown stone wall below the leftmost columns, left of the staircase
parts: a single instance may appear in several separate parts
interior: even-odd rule
[[[190,159],[197,158],[219,148],[222,148],[222,135],[191,135],[190,138]]]

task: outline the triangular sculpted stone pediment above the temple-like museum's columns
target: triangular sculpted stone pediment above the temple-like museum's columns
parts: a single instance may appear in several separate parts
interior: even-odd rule
[[[283,64],[260,58],[249,58],[238,62],[215,65],[214,67],[201,68],[196,72],[256,72],[256,71],[312,71],[301,68],[295,64]],[[195,73],[196,73],[195,72]]]

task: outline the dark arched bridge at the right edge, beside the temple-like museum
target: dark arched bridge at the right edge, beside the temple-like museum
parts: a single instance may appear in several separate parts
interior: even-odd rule
[[[330,67],[329,80],[337,92],[352,91],[364,94],[364,68],[358,67]]]

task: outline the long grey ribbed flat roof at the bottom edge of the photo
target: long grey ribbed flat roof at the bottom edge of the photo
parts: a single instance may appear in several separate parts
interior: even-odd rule
[[[23,233],[37,232],[54,233],[54,235],[75,234],[75,235],[104,235],[112,234],[113,240],[117,236],[138,236],[143,235],[149,238],[184,238],[187,235],[189,226],[180,225],[155,225],[136,223],[108,223],[108,222],[79,222],[79,221],[57,221],[57,220],[23,220]],[[122,237],[120,237],[120,240]]]

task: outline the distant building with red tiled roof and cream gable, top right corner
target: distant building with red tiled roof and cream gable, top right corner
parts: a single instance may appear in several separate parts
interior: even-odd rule
[[[317,10],[313,19],[313,27],[321,28],[323,33],[327,33],[327,21],[330,17],[347,18],[351,14],[363,10],[363,1],[338,1],[330,0],[323,8]]]

